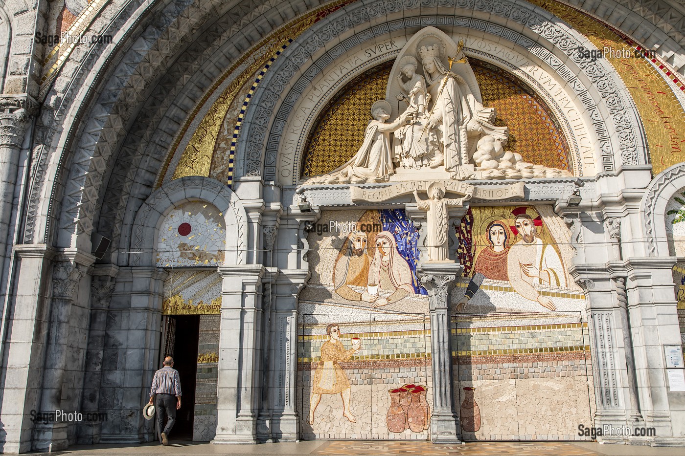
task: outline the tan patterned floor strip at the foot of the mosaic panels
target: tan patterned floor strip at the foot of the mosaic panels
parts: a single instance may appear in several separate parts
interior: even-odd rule
[[[314,455],[428,455],[428,456],[595,456],[601,453],[565,442],[474,442],[464,445],[434,445],[429,442],[329,442]]]

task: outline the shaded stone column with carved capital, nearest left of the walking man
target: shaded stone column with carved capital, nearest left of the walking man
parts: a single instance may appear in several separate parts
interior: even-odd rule
[[[100,383],[102,381],[103,352],[107,312],[114,291],[114,277],[118,267],[97,266],[90,281],[90,327],[86,349],[86,375],[84,377],[83,413],[100,413]],[[97,444],[100,441],[102,423],[84,422],[79,427],[77,443]]]

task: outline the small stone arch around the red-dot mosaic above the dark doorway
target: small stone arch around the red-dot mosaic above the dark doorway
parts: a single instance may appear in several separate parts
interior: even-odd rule
[[[225,264],[245,264],[249,234],[245,207],[232,190],[208,177],[176,179],[158,188],[145,200],[136,214],[128,249],[130,259],[125,263],[129,266],[154,266],[160,224],[174,207],[187,201],[206,201],[223,212],[227,227]],[[228,227],[235,227],[235,231],[229,231]],[[121,249],[126,250],[124,246]]]

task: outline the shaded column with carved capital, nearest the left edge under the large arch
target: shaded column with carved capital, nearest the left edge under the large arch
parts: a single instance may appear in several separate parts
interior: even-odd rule
[[[51,301],[47,353],[45,355],[40,413],[55,413],[62,404],[62,383],[66,355],[69,350],[69,317],[79,281],[86,273],[86,267],[74,261],[62,261],[53,268],[53,296]],[[34,429],[34,449],[46,450],[52,444],[53,450],[69,446],[67,423],[38,423]]]

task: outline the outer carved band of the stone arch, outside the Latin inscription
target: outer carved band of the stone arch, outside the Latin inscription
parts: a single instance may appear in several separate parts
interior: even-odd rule
[[[605,126],[595,127],[599,136],[596,148],[601,150],[597,166],[613,171],[623,164],[647,163],[647,144],[635,105],[630,97],[625,97],[621,90],[625,88],[623,81],[613,74],[608,64],[587,62],[577,55],[580,46],[595,49],[584,36],[533,5],[508,1],[471,4],[456,0],[446,7],[443,3],[423,1],[419,6],[396,0],[384,3],[361,0],[327,16],[299,36],[253,95],[246,114],[249,122],[243,125],[242,140],[236,151],[236,162],[242,162],[236,168],[236,177],[260,175],[266,181],[275,180],[273,164],[280,153],[292,107],[302,88],[329,62],[360,42],[386,37],[393,30],[415,30],[426,25],[465,27],[477,36],[493,34],[530,48],[553,67],[568,65],[568,84],[576,90],[577,83],[583,83],[584,88],[577,92],[597,104],[597,110],[590,116],[597,125],[603,118],[607,119]],[[485,17],[482,13],[487,14],[487,20],[481,18]],[[332,49],[325,47],[333,40],[338,45]],[[306,67],[308,60],[312,64]]]

